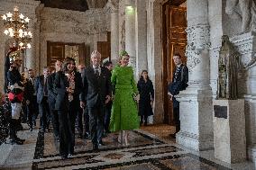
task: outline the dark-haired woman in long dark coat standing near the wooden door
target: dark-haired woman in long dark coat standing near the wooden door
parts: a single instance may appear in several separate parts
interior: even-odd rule
[[[148,117],[153,115],[151,105],[154,101],[154,87],[147,70],[142,71],[137,87],[140,93],[139,114],[141,116],[141,125],[144,120],[144,125],[147,126]]]

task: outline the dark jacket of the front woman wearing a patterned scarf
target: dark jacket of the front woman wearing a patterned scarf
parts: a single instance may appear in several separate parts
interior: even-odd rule
[[[55,74],[54,80],[54,89],[57,94],[55,109],[56,110],[64,110],[68,109],[69,106],[69,94],[67,93],[66,88],[69,87],[69,81],[67,76],[62,71],[59,71]],[[74,100],[73,102],[79,107],[79,95],[82,90],[82,78],[80,73],[76,72],[75,75],[75,90],[74,90]]]

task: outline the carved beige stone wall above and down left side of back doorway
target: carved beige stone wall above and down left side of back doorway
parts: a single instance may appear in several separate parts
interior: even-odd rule
[[[41,11],[41,67],[46,66],[47,41],[85,43],[92,50],[97,41],[106,41],[110,13],[104,9],[76,12],[44,7]]]

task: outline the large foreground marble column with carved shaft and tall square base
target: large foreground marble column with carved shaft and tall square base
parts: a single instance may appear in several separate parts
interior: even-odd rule
[[[181,91],[179,104],[179,145],[195,150],[214,148],[212,90],[209,70],[208,2],[187,0],[187,90]]]

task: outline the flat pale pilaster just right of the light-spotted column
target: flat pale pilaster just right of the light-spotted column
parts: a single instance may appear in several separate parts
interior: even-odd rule
[[[135,40],[136,40],[136,76],[148,69],[147,59],[147,12],[146,1],[136,0]]]

